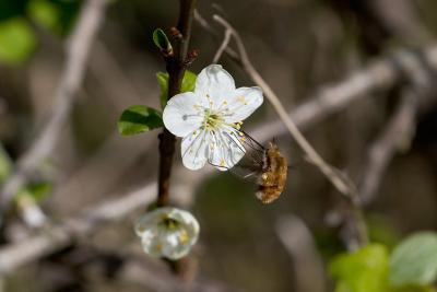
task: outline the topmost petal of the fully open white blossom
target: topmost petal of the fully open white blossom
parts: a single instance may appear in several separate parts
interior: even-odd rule
[[[208,66],[196,80],[194,93],[206,101],[211,109],[217,108],[234,91],[234,79],[221,65]]]

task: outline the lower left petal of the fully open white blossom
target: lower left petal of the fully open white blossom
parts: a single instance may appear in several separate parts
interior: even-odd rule
[[[210,136],[204,130],[194,130],[182,139],[180,149],[185,167],[197,171],[205,165],[209,141]]]

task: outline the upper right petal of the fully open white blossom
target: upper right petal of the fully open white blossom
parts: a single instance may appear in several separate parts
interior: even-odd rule
[[[260,87],[239,87],[226,100],[224,119],[226,122],[237,122],[249,117],[262,104]]]

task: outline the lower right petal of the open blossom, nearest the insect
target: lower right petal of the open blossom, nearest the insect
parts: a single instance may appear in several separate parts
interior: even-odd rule
[[[209,162],[218,171],[228,171],[246,153],[246,149],[239,141],[238,131],[232,127],[222,127],[220,131],[211,135]]]

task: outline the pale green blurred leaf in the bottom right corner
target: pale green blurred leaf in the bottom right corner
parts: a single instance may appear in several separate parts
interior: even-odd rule
[[[402,241],[390,257],[390,283],[426,285],[437,279],[437,233],[421,232]]]

